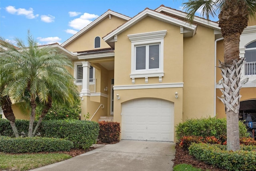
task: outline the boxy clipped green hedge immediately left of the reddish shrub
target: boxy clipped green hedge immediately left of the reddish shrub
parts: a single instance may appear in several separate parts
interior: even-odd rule
[[[96,143],[99,124],[94,121],[49,120],[42,122],[44,137],[66,138],[75,148],[88,149]]]

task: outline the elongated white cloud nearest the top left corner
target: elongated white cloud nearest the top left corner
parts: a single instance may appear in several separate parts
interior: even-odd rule
[[[26,10],[25,8],[16,9],[15,6],[7,6],[5,9],[10,14],[24,15],[28,19],[33,19],[39,16],[38,14],[34,15],[33,8],[29,8],[29,10]]]

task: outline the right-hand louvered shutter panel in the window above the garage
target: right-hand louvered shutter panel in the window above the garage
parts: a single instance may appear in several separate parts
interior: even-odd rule
[[[149,69],[159,68],[159,44],[149,46]]]

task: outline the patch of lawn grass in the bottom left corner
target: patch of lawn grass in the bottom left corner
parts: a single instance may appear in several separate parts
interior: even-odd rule
[[[0,170],[27,171],[72,158],[68,154],[4,154],[0,153]]]

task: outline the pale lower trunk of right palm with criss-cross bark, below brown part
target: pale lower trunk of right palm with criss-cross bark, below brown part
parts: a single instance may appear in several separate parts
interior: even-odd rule
[[[243,82],[240,81],[240,76],[244,58],[241,58],[238,62],[234,60],[230,68],[223,67],[221,62],[219,62],[219,64],[223,78],[223,89],[220,89],[220,91],[222,91],[224,99],[218,98],[225,105],[227,118],[227,150],[237,151],[240,149],[238,115],[241,97],[240,89],[243,84]]]

